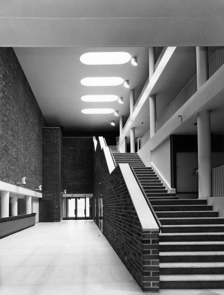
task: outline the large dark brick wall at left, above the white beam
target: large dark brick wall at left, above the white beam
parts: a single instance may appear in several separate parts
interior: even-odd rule
[[[16,184],[26,176],[26,188],[42,184],[43,126],[46,122],[13,49],[1,47],[1,181]]]

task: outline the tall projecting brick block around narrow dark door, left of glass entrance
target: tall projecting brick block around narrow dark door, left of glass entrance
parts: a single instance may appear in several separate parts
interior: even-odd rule
[[[43,200],[53,200],[53,221],[63,218],[62,134],[59,127],[43,128],[42,199],[39,202],[39,219],[43,221]]]

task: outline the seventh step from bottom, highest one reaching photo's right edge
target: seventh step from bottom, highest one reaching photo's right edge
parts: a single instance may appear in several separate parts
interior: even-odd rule
[[[180,218],[160,218],[162,225],[211,225],[211,224],[224,224],[224,218],[218,217],[180,217]]]

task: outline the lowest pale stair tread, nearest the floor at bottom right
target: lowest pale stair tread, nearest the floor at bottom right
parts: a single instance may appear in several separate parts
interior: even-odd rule
[[[160,281],[220,281],[222,274],[188,274],[188,275],[161,275]]]

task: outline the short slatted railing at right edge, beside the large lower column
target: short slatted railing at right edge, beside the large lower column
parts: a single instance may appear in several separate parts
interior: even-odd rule
[[[224,196],[224,165],[212,168],[212,197]]]

